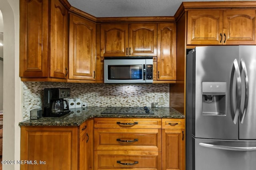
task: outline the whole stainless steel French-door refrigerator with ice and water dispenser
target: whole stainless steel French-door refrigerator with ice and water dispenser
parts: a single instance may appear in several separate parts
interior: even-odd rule
[[[188,53],[186,170],[256,170],[256,46]]]

